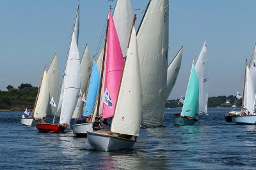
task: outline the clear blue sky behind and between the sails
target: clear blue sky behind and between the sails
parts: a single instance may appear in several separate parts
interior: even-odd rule
[[[131,0],[140,24],[147,0]],[[79,52],[88,43],[97,51],[108,7],[115,1],[81,0]],[[244,63],[256,41],[256,1],[172,0],[170,1],[169,60],[183,45],[182,65],[169,99],[185,96],[191,64],[207,40],[209,96],[242,92]],[[56,52],[61,72],[77,1],[0,1],[0,89],[20,83],[38,86],[45,66]],[[135,10],[140,8],[140,10]]]

